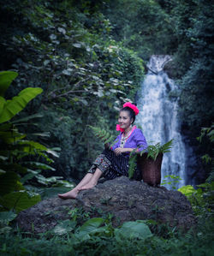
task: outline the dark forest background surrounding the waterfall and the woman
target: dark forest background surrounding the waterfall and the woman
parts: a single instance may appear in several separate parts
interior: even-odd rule
[[[179,87],[173,95],[181,133],[205,173],[194,201],[205,219],[211,202],[201,202],[213,181],[213,16],[205,0],[0,0],[0,71],[18,73],[0,96],[9,100],[27,87],[43,89],[11,120],[0,120],[0,211],[33,205],[9,203],[22,190],[44,199],[45,188],[72,188],[103,149],[88,125],[116,136],[118,110],[135,101],[146,63],[168,54],[173,61],[166,69]],[[8,222],[15,218],[9,216]],[[170,232],[167,239],[175,235]],[[189,237],[181,247],[187,239],[191,247]]]

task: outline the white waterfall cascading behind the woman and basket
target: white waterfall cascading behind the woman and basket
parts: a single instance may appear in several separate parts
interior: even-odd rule
[[[170,99],[169,92],[175,90],[173,80],[163,72],[164,64],[171,59],[169,56],[152,56],[147,65],[149,69],[142,83],[137,104],[140,114],[137,123],[143,130],[148,144],[158,142],[165,144],[174,139],[170,152],[163,156],[162,180],[164,176],[180,176],[181,181],[173,184],[176,188],[185,185],[185,145],[180,134],[180,123],[177,118],[177,98]],[[164,178],[167,182],[170,178]],[[171,188],[169,185],[164,185]]]

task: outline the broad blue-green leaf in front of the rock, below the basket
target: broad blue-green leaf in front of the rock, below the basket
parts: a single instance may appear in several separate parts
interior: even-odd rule
[[[142,240],[152,236],[149,227],[140,220],[123,223],[120,229],[115,229],[115,234],[123,238],[139,238]]]

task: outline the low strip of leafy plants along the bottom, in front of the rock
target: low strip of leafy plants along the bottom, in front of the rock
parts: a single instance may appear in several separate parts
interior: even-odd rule
[[[100,224],[104,223],[100,227]],[[114,229],[104,219],[92,218],[78,227],[74,220],[58,223],[51,234],[33,234],[21,237],[12,232],[0,235],[0,252],[7,254],[56,254],[56,255],[212,255],[213,224],[204,224],[194,231],[180,234],[169,229],[166,239],[151,234],[143,221],[123,223]],[[128,233],[130,229],[130,233]],[[80,231],[81,230],[81,231]],[[84,234],[82,233],[84,232]],[[80,235],[81,234],[81,235]],[[24,234],[23,234],[24,235]],[[147,237],[147,238],[146,238]],[[81,238],[81,239],[80,239]],[[57,244],[57,247],[56,247]]]

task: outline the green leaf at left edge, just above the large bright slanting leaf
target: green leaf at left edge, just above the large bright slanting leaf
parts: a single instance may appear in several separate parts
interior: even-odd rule
[[[0,96],[4,95],[4,92],[8,89],[9,85],[13,80],[15,80],[15,77],[18,75],[18,73],[14,71],[2,71],[0,72]],[[1,101],[1,100],[0,100]],[[0,108],[1,113],[1,108]]]

